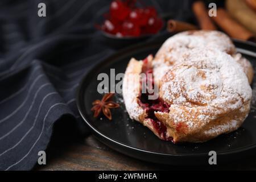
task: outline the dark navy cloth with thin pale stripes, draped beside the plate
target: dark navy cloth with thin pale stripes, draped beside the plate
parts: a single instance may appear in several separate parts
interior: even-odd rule
[[[46,18],[37,15],[40,2],[46,3]],[[146,2],[162,13],[178,6],[177,1]],[[186,0],[179,2],[188,8]],[[46,150],[54,123],[67,115],[82,134],[88,134],[75,93],[82,75],[114,52],[94,29],[109,3],[0,1],[1,170],[32,169],[38,152]]]

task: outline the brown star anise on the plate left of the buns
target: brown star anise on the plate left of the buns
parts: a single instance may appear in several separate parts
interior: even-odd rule
[[[110,109],[119,107],[119,104],[111,101],[112,97],[114,96],[113,93],[107,93],[102,97],[102,100],[96,100],[94,101],[92,111],[94,111],[93,117],[97,118],[101,111],[102,113],[109,119],[112,120],[112,114],[110,112]]]

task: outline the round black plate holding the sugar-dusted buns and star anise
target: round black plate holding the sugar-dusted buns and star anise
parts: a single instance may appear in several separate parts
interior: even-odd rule
[[[253,43],[234,40],[238,51],[251,63],[256,63],[256,46]],[[93,118],[90,111],[92,102],[102,98],[97,92],[99,73],[110,75],[110,68],[117,73],[124,73],[131,57],[143,59],[156,53],[162,43],[145,43],[124,49],[94,67],[81,81],[77,93],[77,106],[86,125],[101,142],[123,154],[148,162],[201,165],[208,164],[209,151],[217,152],[217,163],[226,163],[253,155],[256,151],[256,104],[252,101],[251,111],[242,127],[230,134],[221,135],[205,143],[173,144],[156,137],[147,127],[129,118],[122,102],[122,95],[115,94],[115,100],[121,104],[112,110],[113,120],[105,117]],[[117,81],[118,82],[118,81]],[[256,82],[252,84],[256,90]],[[254,93],[255,94],[255,93]]]

